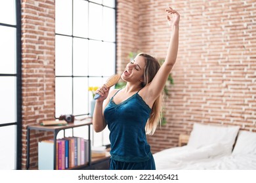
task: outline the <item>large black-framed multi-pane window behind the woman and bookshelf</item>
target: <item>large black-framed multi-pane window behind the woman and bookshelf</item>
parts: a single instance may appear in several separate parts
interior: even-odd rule
[[[116,73],[115,1],[55,2],[55,117],[74,114],[85,118],[91,115],[93,100],[89,86],[102,86]],[[108,129],[91,134],[93,146],[109,144]]]

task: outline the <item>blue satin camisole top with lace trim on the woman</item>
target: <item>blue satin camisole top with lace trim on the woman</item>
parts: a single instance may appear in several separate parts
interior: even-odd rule
[[[148,161],[151,152],[146,141],[145,125],[151,108],[138,92],[120,104],[114,103],[114,96],[104,110],[110,129],[111,158],[123,162]]]

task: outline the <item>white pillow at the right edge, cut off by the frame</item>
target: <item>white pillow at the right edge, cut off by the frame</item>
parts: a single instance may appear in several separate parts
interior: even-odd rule
[[[240,131],[232,154],[256,154],[256,133]]]

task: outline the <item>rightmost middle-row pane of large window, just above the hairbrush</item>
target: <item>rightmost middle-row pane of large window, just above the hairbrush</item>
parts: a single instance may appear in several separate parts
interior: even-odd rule
[[[116,44],[112,42],[102,42],[102,61],[100,66],[102,67],[102,73],[104,76],[110,76],[115,73],[116,65]]]

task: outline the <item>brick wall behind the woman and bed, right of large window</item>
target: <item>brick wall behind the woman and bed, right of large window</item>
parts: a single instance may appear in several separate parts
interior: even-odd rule
[[[179,56],[171,71],[175,85],[168,87],[165,99],[167,124],[148,137],[152,151],[177,146],[179,134],[189,134],[194,122],[256,131],[255,1],[136,2],[139,18],[131,22],[139,29],[130,29],[129,35],[139,35],[134,37],[139,40],[130,46],[129,35],[117,31],[117,63],[136,50],[165,58],[169,29],[164,10],[172,5],[181,14]],[[117,8],[123,12],[117,14],[122,30],[124,23],[118,23],[129,15],[118,4]]]

